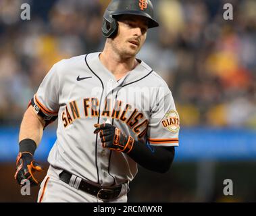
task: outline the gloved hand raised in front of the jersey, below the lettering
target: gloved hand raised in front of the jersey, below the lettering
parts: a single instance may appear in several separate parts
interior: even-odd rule
[[[111,124],[95,124],[94,133],[100,132],[103,148],[109,148],[113,151],[130,153],[134,144],[132,136],[126,136],[121,130]]]

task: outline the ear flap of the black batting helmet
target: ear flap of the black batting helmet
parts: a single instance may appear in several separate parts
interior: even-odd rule
[[[118,32],[118,22],[112,18],[109,11],[103,17],[102,34],[105,38],[111,38]]]

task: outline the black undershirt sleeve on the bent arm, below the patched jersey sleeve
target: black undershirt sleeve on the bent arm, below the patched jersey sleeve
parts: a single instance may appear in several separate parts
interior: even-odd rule
[[[174,160],[174,146],[149,146],[139,141],[134,141],[132,151],[128,155],[140,166],[159,173],[167,172]]]

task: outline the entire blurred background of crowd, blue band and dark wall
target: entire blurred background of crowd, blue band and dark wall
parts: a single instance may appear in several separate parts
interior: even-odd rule
[[[30,19],[22,20],[22,3]],[[28,101],[57,61],[101,51],[106,0],[0,0],[0,201],[35,202],[14,180],[18,127]],[[224,4],[233,20],[224,20]],[[153,0],[161,27],[139,58],[172,90],[180,146],[168,173],[139,167],[130,202],[256,201],[256,1]],[[45,130],[35,157],[45,168],[55,142]],[[39,176],[43,180],[44,173]],[[224,180],[233,196],[224,196]]]

